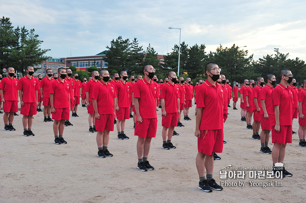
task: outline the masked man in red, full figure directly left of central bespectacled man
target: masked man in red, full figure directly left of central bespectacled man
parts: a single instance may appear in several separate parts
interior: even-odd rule
[[[92,92],[92,105],[95,110],[95,123],[97,124],[98,156],[111,157],[107,147],[110,131],[114,131],[114,118],[116,107],[116,91],[114,85],[108,82],[110,74],[107,70],[100,71],[101,81],[97,81]]]

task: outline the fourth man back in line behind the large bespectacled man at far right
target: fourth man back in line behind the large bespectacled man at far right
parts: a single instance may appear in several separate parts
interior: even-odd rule
[[[245,102],[246,102],[246,123],[247,127],[246,129],[252,130],[253,127],[251,125],[252,122],[252,115],[253,115],[253,105],[254,105],[254,100],[253,100],[253,87],[255,86],[254,80],[249,80],[249,85],[245,89],[244,94],[245,94]]]

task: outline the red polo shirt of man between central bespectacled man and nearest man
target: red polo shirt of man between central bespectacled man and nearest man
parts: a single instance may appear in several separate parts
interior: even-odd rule
[[[180,97],[179,88],[168,82],[162,86],[160,98],[165,100],[165,110],[167,113],[177,113],[177,99]]]

